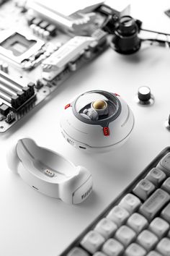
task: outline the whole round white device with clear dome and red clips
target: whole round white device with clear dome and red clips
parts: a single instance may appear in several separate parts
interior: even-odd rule
[[[75,148],[107,152],[122,145],[133,130],[133,112],[115,93],[91,90],[65,106],[63,137]]]

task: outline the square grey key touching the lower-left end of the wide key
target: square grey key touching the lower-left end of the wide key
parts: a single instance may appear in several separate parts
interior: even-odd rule
[[[130,218],[128,218],[127,225],[130,226],[137,234],[148,226],[148,221],[145,217],[139,213],[133,213]]]

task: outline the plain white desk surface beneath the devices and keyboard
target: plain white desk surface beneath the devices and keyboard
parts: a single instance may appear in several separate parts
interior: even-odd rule
[[[60,1],[58,1],[58,4]],[[132,14],[143,27],[170,33],[163,13],[169,1],[133,1]],[[155,96],[151,107],[138,106],[135,93],[148,85]],[[74,95],[101,89],[119,93],[135,115],[128,142],[106,154],[81,152],[60,132],[61,109]],[[0,255],[57,256],[166,146],[170,132],[164,121],[170,111],[170,51],[146,48],[131,56],[112,49],[67,80],[49,101],[30,112],[0,136]],[[89,168],[94,192],[81,205],[66,205],[36,192],[6,166],[6,150],[21,137],[32,137],[76,165]]]

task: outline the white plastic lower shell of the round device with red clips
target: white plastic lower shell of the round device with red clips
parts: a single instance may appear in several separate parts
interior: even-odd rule
[[[63,137],[75,148],[89,152],[107,152],[122,145],[133,130],[134,116],[130,107],[120,97],[121,112],[109,123],[109,136],[104,136],[100,125],[86,124],[74,114],[72,107],[63,110],[61,132]]]

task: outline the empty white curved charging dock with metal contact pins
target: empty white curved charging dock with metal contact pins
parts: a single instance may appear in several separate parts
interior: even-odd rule
[[[9,150],[7,163],[30,187],[63,202],[83,202],[92,191],[92,177],[86,168],[74,166],[62,155],[41,148],[28,138]]]

